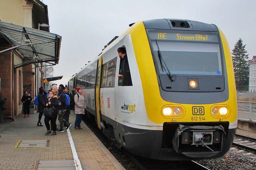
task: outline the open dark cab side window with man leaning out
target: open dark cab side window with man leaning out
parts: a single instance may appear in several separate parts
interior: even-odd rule
[[[124,58],[120,59],[119,74],[122,74],[123,77],[118,77],[118,86],[132,86],[132,78],[127,53],[124,55]]]

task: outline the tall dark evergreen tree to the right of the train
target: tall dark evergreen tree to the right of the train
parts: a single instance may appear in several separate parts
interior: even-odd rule
[[[242,39],[239,39],[232,50],[232,60],[236,79],[236,90],[248,90],[249,83],[249,65],[248,55],[243,45]]]

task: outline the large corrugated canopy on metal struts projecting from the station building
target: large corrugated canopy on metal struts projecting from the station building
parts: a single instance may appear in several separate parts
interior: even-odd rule
[[[3,21],[0,21],[0,34],[14,46],[0,53],[18,50],[24,57],[14,68],[32,63],[49,63],[48,66],[59,63],[60,35]]]

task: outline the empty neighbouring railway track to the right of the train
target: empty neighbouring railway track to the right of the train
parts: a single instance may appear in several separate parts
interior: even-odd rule
[[[256,153],[256,138],[236,134],[232,146]]]

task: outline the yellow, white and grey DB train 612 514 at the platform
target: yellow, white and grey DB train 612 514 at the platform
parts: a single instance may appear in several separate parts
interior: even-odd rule
[[[130,83],[122,82],[125,47]],[[86,113],[130,152],[160,160],[223,156],[237,128],[234,70],[216,25],[191,20],[138,21],[72,77]]]

